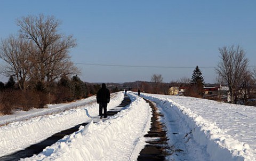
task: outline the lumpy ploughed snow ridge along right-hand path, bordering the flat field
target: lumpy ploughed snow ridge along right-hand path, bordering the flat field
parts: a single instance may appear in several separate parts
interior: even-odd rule
[[[150,94],[144,94],[143,96],[153,100],[158,106],[169,110],[170,115],[175,114],[169,117],[179,119],[179,128],[184,129],[187,134],[190,134],[189,139],[196,141],[199,146],[205,147],[209,154],[209,160],[255,160],[255,155],[249,144],[234,139],[233,136],[220,129],[214,122],[209,122],[203,116],[196,114],[195,111],[190,109],[190,107],[199,105],[198,102],[193,102],[195,98],[185,98],[182,100],[183,104],[188,104],[189,101],[190,106],[188,107],[182,106],[182,101],[179,103],[173,101],[172,96]],[[180,98],[177,97],[176,100]],[[209,100],[201,99],[200,101],[207,102]],[[201,104],[203,105],[203,103]],[[205,108],[205,111],[211,110],[203,106],[200,108]],[[230,124],[232,123],[230,122]]]

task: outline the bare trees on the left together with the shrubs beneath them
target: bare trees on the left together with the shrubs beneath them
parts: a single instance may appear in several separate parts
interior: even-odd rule
[[[59,33],[61,22],[53,16],[28,15],[17,20],[18,33],[1,39],[1,73],[10,77],[0,83],[0,110],[42,108],[84,98],[87,87],[76,74],[69,51],[76,46],[72,35]]]

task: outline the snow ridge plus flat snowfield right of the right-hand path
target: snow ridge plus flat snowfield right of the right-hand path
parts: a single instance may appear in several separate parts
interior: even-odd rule
[[[175,119],[180,133],[186,134],[186,143],[195,141],[205,149],[209,160],[255,160],[255,107],[183,96],[141,95]]]

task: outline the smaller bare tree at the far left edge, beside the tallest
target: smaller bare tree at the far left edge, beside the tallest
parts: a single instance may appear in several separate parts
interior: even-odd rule
[[[0,58],[6,62],[1,70],[6,76],[14,76],[21,90],[26,90],[29,79],[31,62],[29,61],[32,44],[22,38],[9,36],[2,40],[0,46]]]

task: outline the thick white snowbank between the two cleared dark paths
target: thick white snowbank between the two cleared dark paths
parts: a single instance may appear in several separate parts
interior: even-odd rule
[[[151,108],[142,98],[130,95],[132,103],[113,117],[80,127],[78,132],[22,160],[136,160],[145,146]]]

